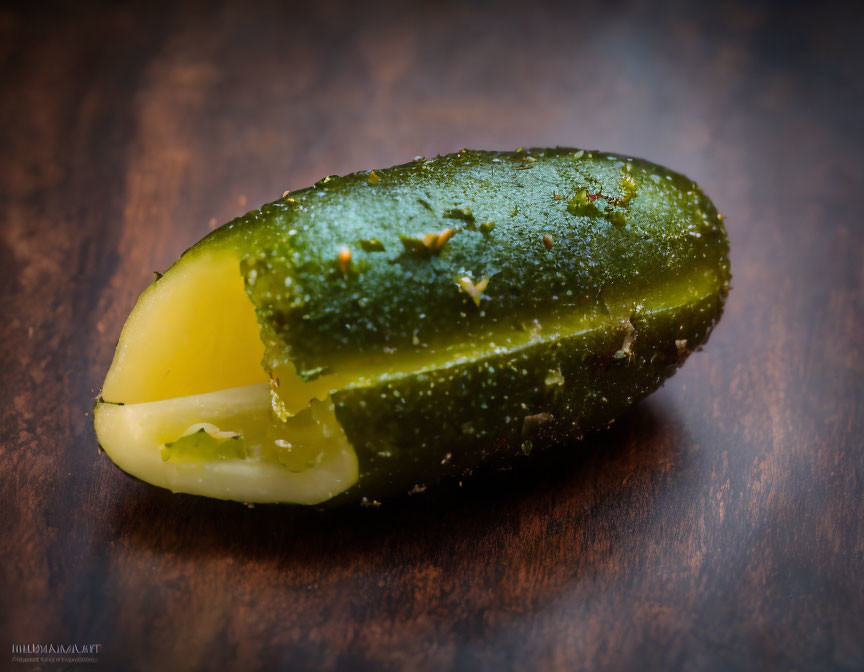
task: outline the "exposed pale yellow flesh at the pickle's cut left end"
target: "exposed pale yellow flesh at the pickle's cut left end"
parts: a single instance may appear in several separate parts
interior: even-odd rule
[[[357,457],[326,390],[290,372],[294,400],[283,422],[252,303],[232,251],[184,259],[141,296],[129,317],[96,408],[96,433],[122,469],[149,483],[243,502],[318,504],[357,481]],[[324,401],[313,399],[321,396]],[[238,459],[166,458],[202,423],[243,437]]]

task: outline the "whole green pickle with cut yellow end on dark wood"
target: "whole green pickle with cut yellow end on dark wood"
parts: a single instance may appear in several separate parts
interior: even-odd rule
[[[729,282],[711,201],[646,161],[462,150],[331,176],[144,291],[96,431],[175,491],[374,504],[578,449],[705,342]]]

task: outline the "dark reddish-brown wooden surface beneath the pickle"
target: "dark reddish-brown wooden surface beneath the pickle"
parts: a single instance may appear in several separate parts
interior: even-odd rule
[[[0,10],[5,651],[864,669],[860,10],[84,4]],[[555,144],[685,172],[731,238],[707,347],[612,430],[326,515],[171,495],[97,451],[124,318],[209,228],[331,173]]]

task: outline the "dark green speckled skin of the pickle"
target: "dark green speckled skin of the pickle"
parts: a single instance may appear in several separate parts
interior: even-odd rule
[[[437,362],[331,392],[360,463],[334,502],[606,426],[704,344],[731,277],[722,217],[692,180],[572,148],[325,178],[196,248],[222,245],[243,255],[268,369],[290,360],[313,379],[367,360]],[[486,281],[477,301],[465,278]]]

